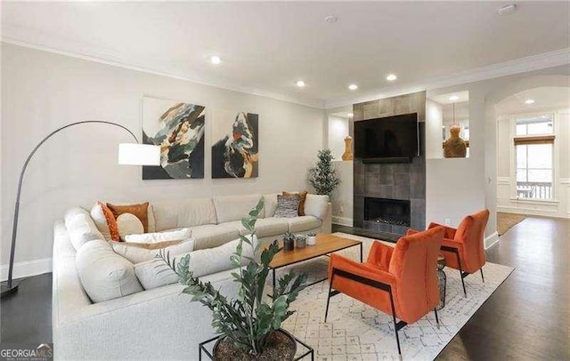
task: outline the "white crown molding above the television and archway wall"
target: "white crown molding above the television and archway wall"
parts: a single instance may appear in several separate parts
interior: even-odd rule
[[[436,76],[426,78],[411,84],[393,85],[379,88],[373,92],[367,92],[359,97],[346,98],[343,100],[326,101],[325,108],[337,108],[347,105],[377,100],[411,92],[420,92],[428,89],[443,88],[446,86],[468,84],[482,80],[493,79],[501,76],[511,76],[544,68],[553,68],[570,64],[570,48],[560,49],[554,52],[543,52],[516,60],[504,61],[481,68],[455,73],[449,76]]]

